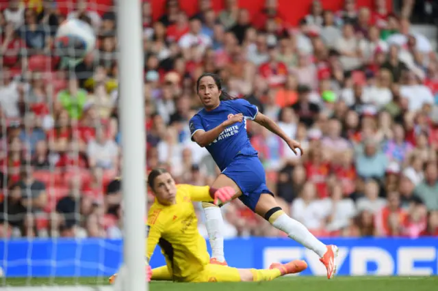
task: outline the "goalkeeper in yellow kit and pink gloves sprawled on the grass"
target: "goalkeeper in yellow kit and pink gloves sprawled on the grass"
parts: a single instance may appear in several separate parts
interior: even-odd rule
[[[155,195],[155,202],[148,215],[146,240],[147,260],[158,244],[166,266],[147,266],[148,280],[177,282],[209,281],[270,281],[286,274],[299,273],[307,263],[294,260],[287,264],[272,264],[270,269],[237,269],[229,266],[209,264],[209,253],[205,239],[198,232],[198,219],[193,202],[229,202],[235,191],[231,187],[212,189],[209,186],[175,184],[165,169],[154,169],[148,177],[148,184]],[[110,278],[114,281],[116,275]]]

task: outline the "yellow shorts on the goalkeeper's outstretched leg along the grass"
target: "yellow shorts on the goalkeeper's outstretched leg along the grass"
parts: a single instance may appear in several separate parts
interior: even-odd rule
[[[216,264],[207,264],[203,271],[190,282],[240,282],[240,274],[237,268],[230,266],[221,266]]]

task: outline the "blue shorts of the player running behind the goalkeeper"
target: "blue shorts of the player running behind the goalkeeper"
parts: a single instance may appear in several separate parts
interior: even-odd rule
[[[236,156],[222,174],[239,186],[242,195],[239,197],[250,210],[255,211],[262,193],[274,195],[266,186],[266,173],[258,156]]]

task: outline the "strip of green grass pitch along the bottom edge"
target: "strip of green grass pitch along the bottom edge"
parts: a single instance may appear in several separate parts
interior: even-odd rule
[[[1,282],[1,280],[0,280]],[[3,281],[4,283],[4,281]],[[3,283],[0,283],[0,290]],[[55,278],[27,279],[9,278],[8,286],[96,285],[106,283],[102,278]],[[283,277],[270,282],[250,283],[172,283],[151,282],[152,291],[432,291],[438,290],[438,276],[435,277]]]

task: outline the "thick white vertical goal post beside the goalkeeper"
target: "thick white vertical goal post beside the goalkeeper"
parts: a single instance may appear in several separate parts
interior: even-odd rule
[[[116,291],[146,290],[146,129],[141,0],[118,0],[120,122],[123,133],[124,266]],[[121,282],[120,282],[121,281]]]

